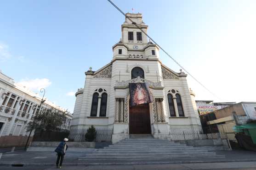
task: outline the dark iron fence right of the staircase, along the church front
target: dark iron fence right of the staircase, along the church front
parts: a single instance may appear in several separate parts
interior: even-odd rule
[[[170,128],[172,141],[217,139],[218,133],[205,133],[201,126],[175,126]]]

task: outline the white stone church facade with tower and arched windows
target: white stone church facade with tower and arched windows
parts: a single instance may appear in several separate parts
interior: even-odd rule
[[[147,32],[142,14],[126,15]],[[85,72],[85,86],[75,93],[71,129],[91,125],[113,128],[112,142],[116,143],[129,138],[130,134],[146,133],[155,138],[170,139],[172,128],[200,127],[187,75],[182,70],[175,72],[165,66],[159,60],[158,46],[148,41],[128,18],[121,30],[122,38],[113,46],[113,59],[97,71],[90,68]],[[145,84],[151,101],[131,104],[131,83],[138,89],[141,89],[138,84]],[[139,101],[142,92],[139,90],[136,95]]]

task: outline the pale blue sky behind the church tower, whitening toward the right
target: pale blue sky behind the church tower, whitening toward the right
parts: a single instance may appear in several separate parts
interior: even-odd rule
[[[207,88],[188,77],[196,99],[256,101],[255,0],[113,0],[140,12],[148,34]],[[84,72],[112,59],[125,18],[107,0],[6,0],[0,5],[0,70],[54,103],[74,109],[68,95]],[[162,52],[160,60],[179,67]]]

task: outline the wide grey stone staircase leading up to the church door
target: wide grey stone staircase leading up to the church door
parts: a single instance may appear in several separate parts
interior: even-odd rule
[[[130,135],[130,139],[98,149],[79,160],[95,164],[170,162],[224,158],[215,152],[193,148],[185,144],[155,139],[148,134]]]

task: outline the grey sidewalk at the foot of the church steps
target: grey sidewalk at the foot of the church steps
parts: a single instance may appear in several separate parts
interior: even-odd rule
[[[237,150],[237,151],[216,151],[217,154],[225,155],[225,158],[207,159],[164,159],[159,162],[115,162],[109,164],[107,161],[101,164],[93,162],[85,162],[79,160],[79,157],[84,157],[85,154],[91,153],[95,148],[88,149],[87,152],[67,152],[64,156],[63,166],[88,166],[88,165],[147,165],[147,164],[186,164],[186,163],[214,163],[214,162],[256,162],[256,152]],[[24,152],[16,151],[13,153],[3,153],[0,159],[0,166],[10,166],[13,164],[23,164],[24,166],[32,165],[55,165],[57,159],[55,152]],[[191,164],[190,164],[191,165]],[[150,166],[150,165],[149,165]]]

